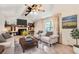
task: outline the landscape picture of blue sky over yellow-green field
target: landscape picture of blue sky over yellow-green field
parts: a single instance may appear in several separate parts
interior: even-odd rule
[[[77,27],[77,15],[63,17],[62,19],[63,28],[76,28]]]

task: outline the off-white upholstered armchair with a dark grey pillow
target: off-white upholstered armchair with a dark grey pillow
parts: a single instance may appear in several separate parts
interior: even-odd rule
[[[47,32],[46,35],[41,35],[41,41],[47,43],[50,45],[58,42],[58,35],[57,34],[53,34],[52,32]]]

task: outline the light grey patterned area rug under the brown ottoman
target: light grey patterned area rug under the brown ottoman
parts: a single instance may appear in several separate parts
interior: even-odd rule
[[[55,50],[52,47],[47,46],[46,44],[39,43],[38,48],[34,47],[29,50],[22,52],[22,48],[19,43],[15,43],[15,54],[55,54]]]

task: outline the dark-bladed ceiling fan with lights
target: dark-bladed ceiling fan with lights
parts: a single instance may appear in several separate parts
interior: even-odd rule
[[[25,6],[27,6],[24,14],[25,16],[27,16],[30,12],[45,12],[45,10],[42,9],[41,4],[25,4]]]

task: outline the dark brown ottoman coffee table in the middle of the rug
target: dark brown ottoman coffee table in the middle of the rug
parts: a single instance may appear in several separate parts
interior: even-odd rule
[[[27,49],[34,48],[35,46],[38,47],[38,40],[35,38],[32,38],[31,43],[28,43],[25,38],[20,38],[19,44],[21,45],[23,52],[25,52],[25,50]]]

